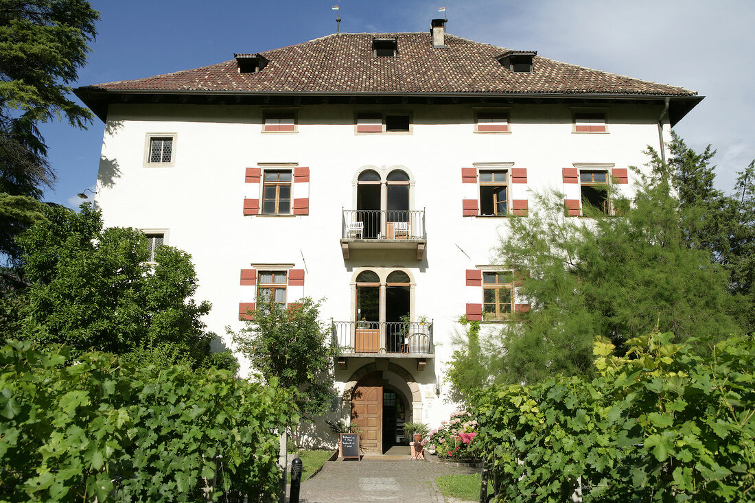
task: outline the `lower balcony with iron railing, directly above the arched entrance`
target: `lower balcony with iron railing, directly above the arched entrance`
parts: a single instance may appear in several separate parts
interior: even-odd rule
[[[347,358],[414,358],[418,370],[433,358],[433,323],[331,322],[332,344],[339,351],[338,365]]]

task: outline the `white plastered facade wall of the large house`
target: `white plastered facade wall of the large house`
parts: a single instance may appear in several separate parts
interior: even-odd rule
[[[411,134],[355,134],[356,111],[371,110],[411,111]],[[399,363],[421,387],[422,420],[436,425],[454,409],[443,403],[445,393],[431,397],[451,356],[449,335],[469,301],[465,270],[494,263],[491,248],[507,229],[507,218],[462,216],[469,184],[461,183],[461,168],[513,163],[527,169],[528,190],[562,190],[562,168],[575,163],[642,166],[643,150],[658,149],[662,110],[612,105],[609,132],[596,134],[573,133],[568,106],[513,105],[509,134],[475,134],[473,108],[466,105],[301,106],[297,133],[268,134],[261,132],[259,106],[113,105],[95,202],[106,226],[168,229],[167,244],[193,255],[197,298],[213,305],[205,321],[228,345],[225,327],[242,326],[239,271],[251,264],[305,269],[304,295],[325,297],[322,318],[335,320],[353,319],[350,282],[359,267],[408,268],[416,282],[414,316],[434,321],[436,357],[421,372],[411,369],[413,360]],[[148,134],[176,134],[170,167],[144,167]],[[245,168],[260,163],[310,168],[308,215],[242,215],[243,199],[251,197]],[[353,252],[352,260],[344,261],[341,208],[356,209],[353,180],[366,166],[399,167],[411,175],[411,209],[427,210],[423,261],[381,252]],[[532,210],[532,199],[529,205]],[[337,379],[345,381],[355,370],[337,371]]]

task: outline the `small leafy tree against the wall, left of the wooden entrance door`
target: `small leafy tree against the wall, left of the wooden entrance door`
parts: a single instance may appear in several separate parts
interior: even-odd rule
[[[299,412],[312,420],[328,411],[335,396],[333,357],[329,331],[319,322],[320,302],[302,298],[282,308],[257,303],[245,328],[234,333],[233,342],[250,360],[264,381],[277,378],[283,387],[299,390]]]

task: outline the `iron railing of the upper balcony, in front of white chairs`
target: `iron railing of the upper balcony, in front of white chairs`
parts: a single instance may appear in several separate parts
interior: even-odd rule
[[[342,239],[427,239],[424,210],[344,210]]]

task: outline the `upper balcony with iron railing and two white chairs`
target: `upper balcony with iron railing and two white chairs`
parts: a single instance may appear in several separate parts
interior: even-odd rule
[[[343,210],[341,252],[349,260],[354,250],[411,250],[424,258],[427,234],[424,210]]]

